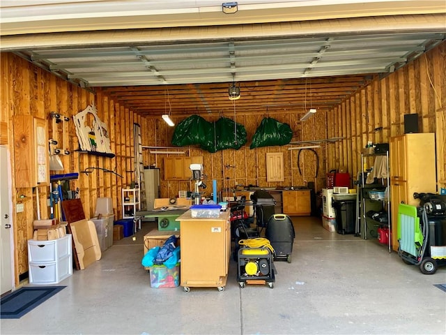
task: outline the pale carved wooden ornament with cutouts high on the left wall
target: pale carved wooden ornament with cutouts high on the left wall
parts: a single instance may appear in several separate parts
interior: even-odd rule
[[[92,119],[93,117],[93,119]],[[112,154],[107,125],[97,114],[94,104],[72,117],[75,121],[76,135],[81,151]]]

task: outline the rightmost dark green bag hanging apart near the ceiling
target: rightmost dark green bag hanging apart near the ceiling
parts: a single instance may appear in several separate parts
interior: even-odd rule
[[[250,148],[289,144],[292,137],[293,131],[289,124],[282,124],[272,117],[266,117],[254,133]]]

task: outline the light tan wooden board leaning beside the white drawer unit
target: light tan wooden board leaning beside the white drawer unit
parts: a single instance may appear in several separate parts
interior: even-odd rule
[[[80,220],[70,223],[70,226],[79,267],[83,270],[101,258],[98,233],[92,221]]]

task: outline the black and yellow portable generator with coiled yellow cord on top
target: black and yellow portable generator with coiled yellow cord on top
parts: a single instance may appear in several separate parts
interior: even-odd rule
[[[238,250],[238,274],[237,281],[240,288],[247,284],[265,284],[274,287],[274,265],[272,260],[274,251],[268,247],[245,246]]]

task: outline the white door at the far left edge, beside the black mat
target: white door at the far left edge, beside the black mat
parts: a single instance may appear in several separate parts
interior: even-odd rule
[[[13,269],[12,269],[12,229],[10,213],[10,171],[8,168],[8,151],[6,147],[0,146],[0,271],[1,271],[1,292],[6,293],[13,289]]]

